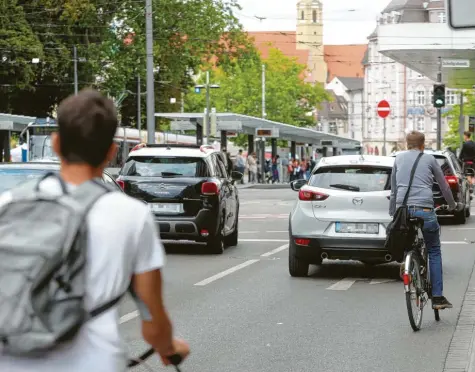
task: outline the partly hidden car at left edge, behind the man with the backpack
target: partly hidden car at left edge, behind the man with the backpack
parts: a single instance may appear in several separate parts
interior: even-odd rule
[[[59,173],[59,168],[59,163],[53,162],[0,163],[0,194],[23,182],[39,179],[48,172]],[[102,180],[122,192],[122,188],[107,171],[102,174]]]

